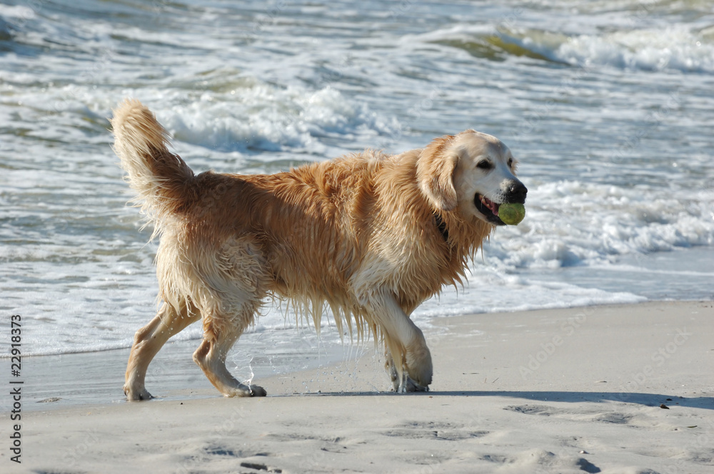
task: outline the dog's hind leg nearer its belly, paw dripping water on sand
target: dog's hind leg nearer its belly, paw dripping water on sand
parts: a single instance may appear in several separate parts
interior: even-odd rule
[[[246,306],[250,306],[247,305]],[[204,316],[203,341],[193,353],[193,361],[201,367],[208,380],[224,396],[265,396],[266,391],[257,385],[246,385],[234,378],[226,369],[226,356],[233,344],[243,334],[248,321],[253,320],[253,313],[258,304],[247,307],[243,314],[233,317]],[[228,319],[228,321],[225,321]],[[238,323],[233,321],[238,320]],[[222,324],[221,324],[222,323]]]

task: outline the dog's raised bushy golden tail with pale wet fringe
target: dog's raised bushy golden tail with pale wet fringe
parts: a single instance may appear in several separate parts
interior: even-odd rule
[[[149,220],[154,233],[171,215],[181,214],[196,199],[196,178],[191,168],[169,152],[169,133],[141,102],[127,99],[114,110],[114,151],[121,168],[137,192],[136,202]]]

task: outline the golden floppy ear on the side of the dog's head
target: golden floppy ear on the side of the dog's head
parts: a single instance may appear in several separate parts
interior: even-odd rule
[[[438,210],[450,211],[458,204],[453,173],[459,150],[450,147],[453,136],[437,138],[424,148],[416,164],[416,179],[426,199]]]

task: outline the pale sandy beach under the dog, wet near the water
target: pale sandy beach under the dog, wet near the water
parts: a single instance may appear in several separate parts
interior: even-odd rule
[[[438,319],[432,391],[406,395],[385,391],[371,349],[256,379],[266,398],[228,399],[192,366],[194,344],[176,345],[164,354],[176,369],[147,383],[166,395],[141,403],[121,401],[126,351],[29,359],[51,371],[25,381],[21,464],[4,397],[1,470],[711,473],[713,323],[712,302]],[[77,402],[95,387],[113,395]]]

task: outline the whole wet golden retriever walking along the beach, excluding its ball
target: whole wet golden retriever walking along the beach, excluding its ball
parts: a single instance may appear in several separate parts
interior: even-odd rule
[[[431,354],[411,312],[462,282],[503,225],[500,204],[526,200],[511,151],[474,130],[400,155],[366,150],[274,175],[195,175],[139,101],[122,103],[111,123],[136,202],[160,236],[161,306],[136,332],[129,400],[151,398],[151,359],[199,320],[193,360],[208,380],[225,396],[264,396],[231,376],[226,355],[268,295],[296,304],[318,330],[328,307],[340,334],[383,342],[395,391],[428,390]]]

